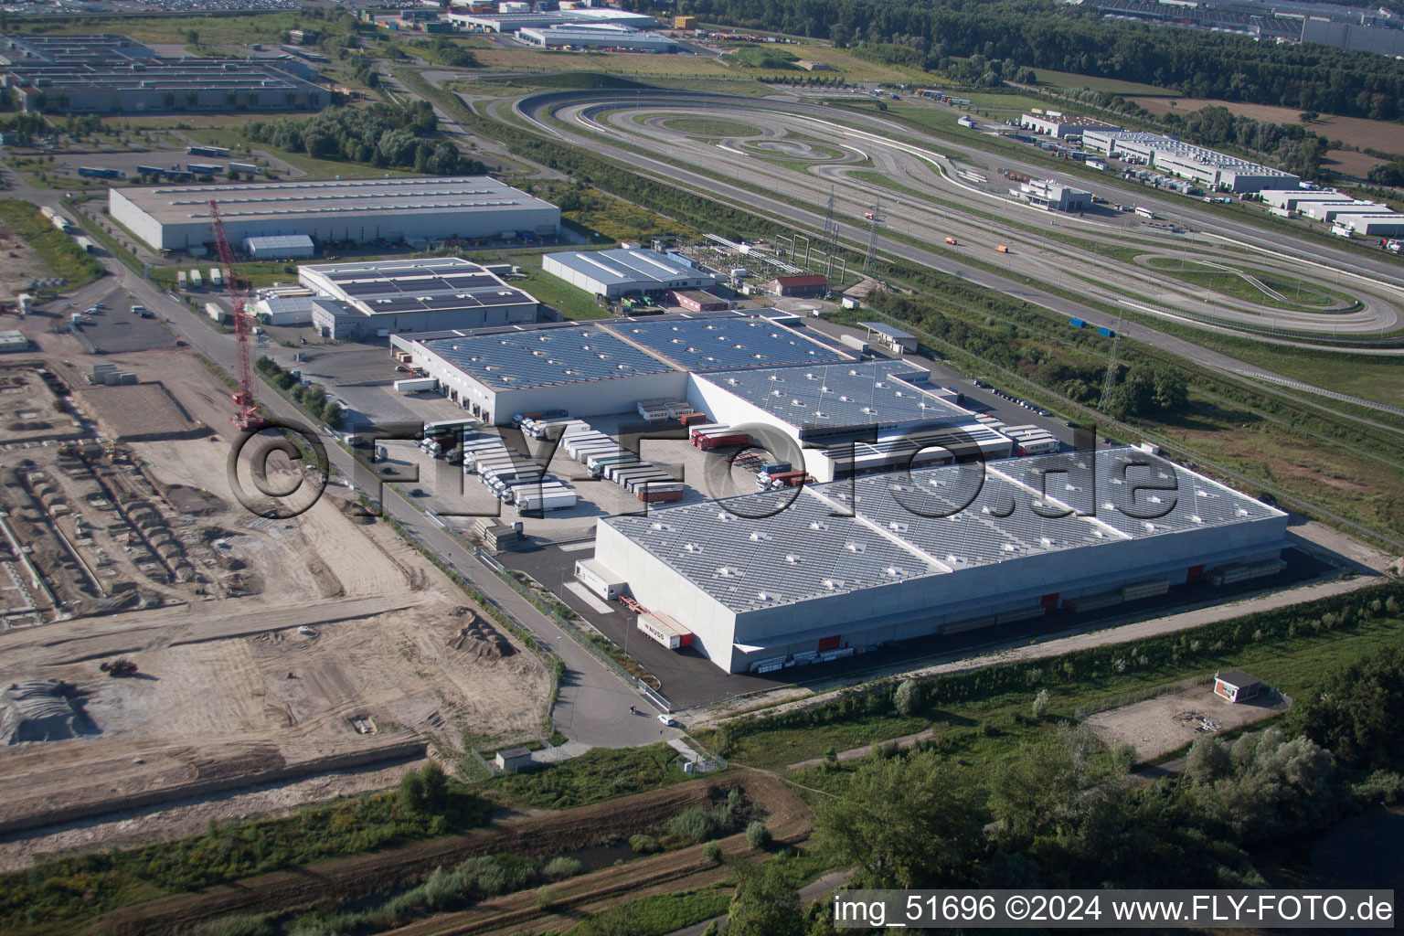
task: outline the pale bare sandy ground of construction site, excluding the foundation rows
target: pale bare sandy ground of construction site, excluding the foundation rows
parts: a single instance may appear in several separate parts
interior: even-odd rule
[[[94,358],[63,351],[67,358],[48,363],[79,386]],[[94,594],[72,619],[48,613],[39,626],[0,630],[0,683],[69,682],[94,728],[0,748],[7,791],[0,822],[35,815],[72,822],[79,814],[143,805],[140,838],[168,838],[211,817],[389,784],[392,777],[376,770],[329,780],[327,770],[341,773],[350,755],[403,765],[425,740],[452,751],[465,731],[504,742],[539,733],[550,685],[541,661],[392,530],[354,522],[344,491],[329,491],[288,521],[240,507],[225,464],[229,392],[198,358],[171,348],[97,359],[161,380],[215,435],[133,442],[117,457],[91,445],[79,466],[87,474],[60,467],[58,445],[25,450],[48,466],[44,484],[59,479],[66,502],[91,514],[79,530],[87,533],[83,542],[67,529],[95,570],[98,551],[111,560],[112,580],[98,581],[114,594],[115,582],[132,582],[140,602],[104,613]],[[14,457],[7,455],[7,462]],[[100,508],[81,487],[98,480],[108,486]],[[149,514],[124,501],[128,487]],[[110,535],[114,505],[131,522]],[[34,505],[27,511],[37,526],[70,523]],[[135,561],[124,550],[146,559]],[[52,566],[39,571],[76,575]],[[67,592],[56,594],[62,602]],[[463,639],[473,624],[482,637]],[[118,655],[139,665],[138,676],[98,671],[98,662]],[[278,783],[246,796],[237,790],[246,777]],[[213,794],[213,784],[230,789]],[[187,803],[166,814],[133,803],[135,796]],[[0,828],[11,828],[0,836],[0,863],[10,867],[53,849],[133,841],[122,817],[94,815],[53,834]]]

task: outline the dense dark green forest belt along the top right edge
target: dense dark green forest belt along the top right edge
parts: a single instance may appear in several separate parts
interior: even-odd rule
[[[1389,56],[1115,21],[1052,0],[680,0],[678,13],[838,44],[906,45],[929,72],[952,72],[956,59],[981,55],[1019,67],[1148,83],[1189,97],[1324,114],[1394,119],[1404,107],[1404,70]]]

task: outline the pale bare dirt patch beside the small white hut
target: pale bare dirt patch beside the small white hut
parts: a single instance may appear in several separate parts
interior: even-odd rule
[[[1230,704],[1214,695],[1210,682],[1099,711],[1087,720],[1087,726],[1106,747],[1129,741],[1136,745],[1141,761],[1150,761],[1178,751],[1195,738],[1261,721],[1286,707],[1280,696],[1269,692]]]

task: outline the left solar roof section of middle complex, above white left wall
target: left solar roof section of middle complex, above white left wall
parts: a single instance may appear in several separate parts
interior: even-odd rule
[[[496,390],[550,387],[674,370],[594,326],[432,338],[423,341],[423,345]]]

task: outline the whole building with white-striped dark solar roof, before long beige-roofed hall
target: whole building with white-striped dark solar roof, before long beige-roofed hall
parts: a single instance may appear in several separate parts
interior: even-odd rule
[[[333,300],[312,309],[312,323],[331,338],[536,320],[532,296],[458,257],[313,264],[298,267],[298,281]]]

